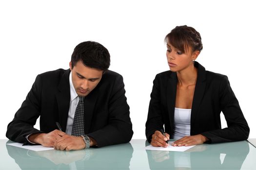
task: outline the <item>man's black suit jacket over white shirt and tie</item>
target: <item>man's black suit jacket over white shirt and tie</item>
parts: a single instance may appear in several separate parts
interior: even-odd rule
[[[26,100],[8,124],[6,136],[13,141],[28,143],[25,136],[66,131],[70,104],[70,70],[57,69],[39,74]],[[129,105],[126,102],[123,78],[107,70],[93,91],[84,100],[84,131],[98,147],[126,143],[133,136]],[[40,130],[33,126],[40,117]]]

